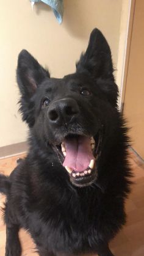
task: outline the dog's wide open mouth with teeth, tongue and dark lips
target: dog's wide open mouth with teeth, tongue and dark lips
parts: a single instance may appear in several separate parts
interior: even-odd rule
[[[98,176],[98,158],[101,153],[102,133],[94,137],[69,134],[57,146],[60,163],[68,172],[71,183],[84,187],[91,185]]]

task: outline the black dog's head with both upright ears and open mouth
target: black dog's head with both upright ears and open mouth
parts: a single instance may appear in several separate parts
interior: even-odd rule
[[[51,145],[76,186],[97,177],[110,112],[117,108],[117,86],[109,45],[94,29],[76,73],[50,78],[26,50],[18,57],[17,81],[23,120],[43,145]]]

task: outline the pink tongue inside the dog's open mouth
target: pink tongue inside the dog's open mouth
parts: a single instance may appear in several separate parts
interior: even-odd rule
[[[90,138],[79,136],[65,139],[66,157],[63,166],[68,166],[76,172],[87,169],[90,161],[94,159],[90,145]]]

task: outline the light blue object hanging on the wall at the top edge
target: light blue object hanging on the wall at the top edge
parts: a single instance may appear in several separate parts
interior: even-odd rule
[[[44,2],[48,4],[54,12],[59,24],[62,23],[63,17],[63,0],[30,0],[31,2]]]

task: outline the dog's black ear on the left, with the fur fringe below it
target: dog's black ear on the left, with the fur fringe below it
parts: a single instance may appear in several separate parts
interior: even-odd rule
[[[21,93],[20,112],[23,115],[23,120],[29,126],[34,125],[34,104],[32,104],[31,98],[41,82],[49,77],[48,70],[41,67],[37,60],[23,49],[18,56],[16,78]]]

